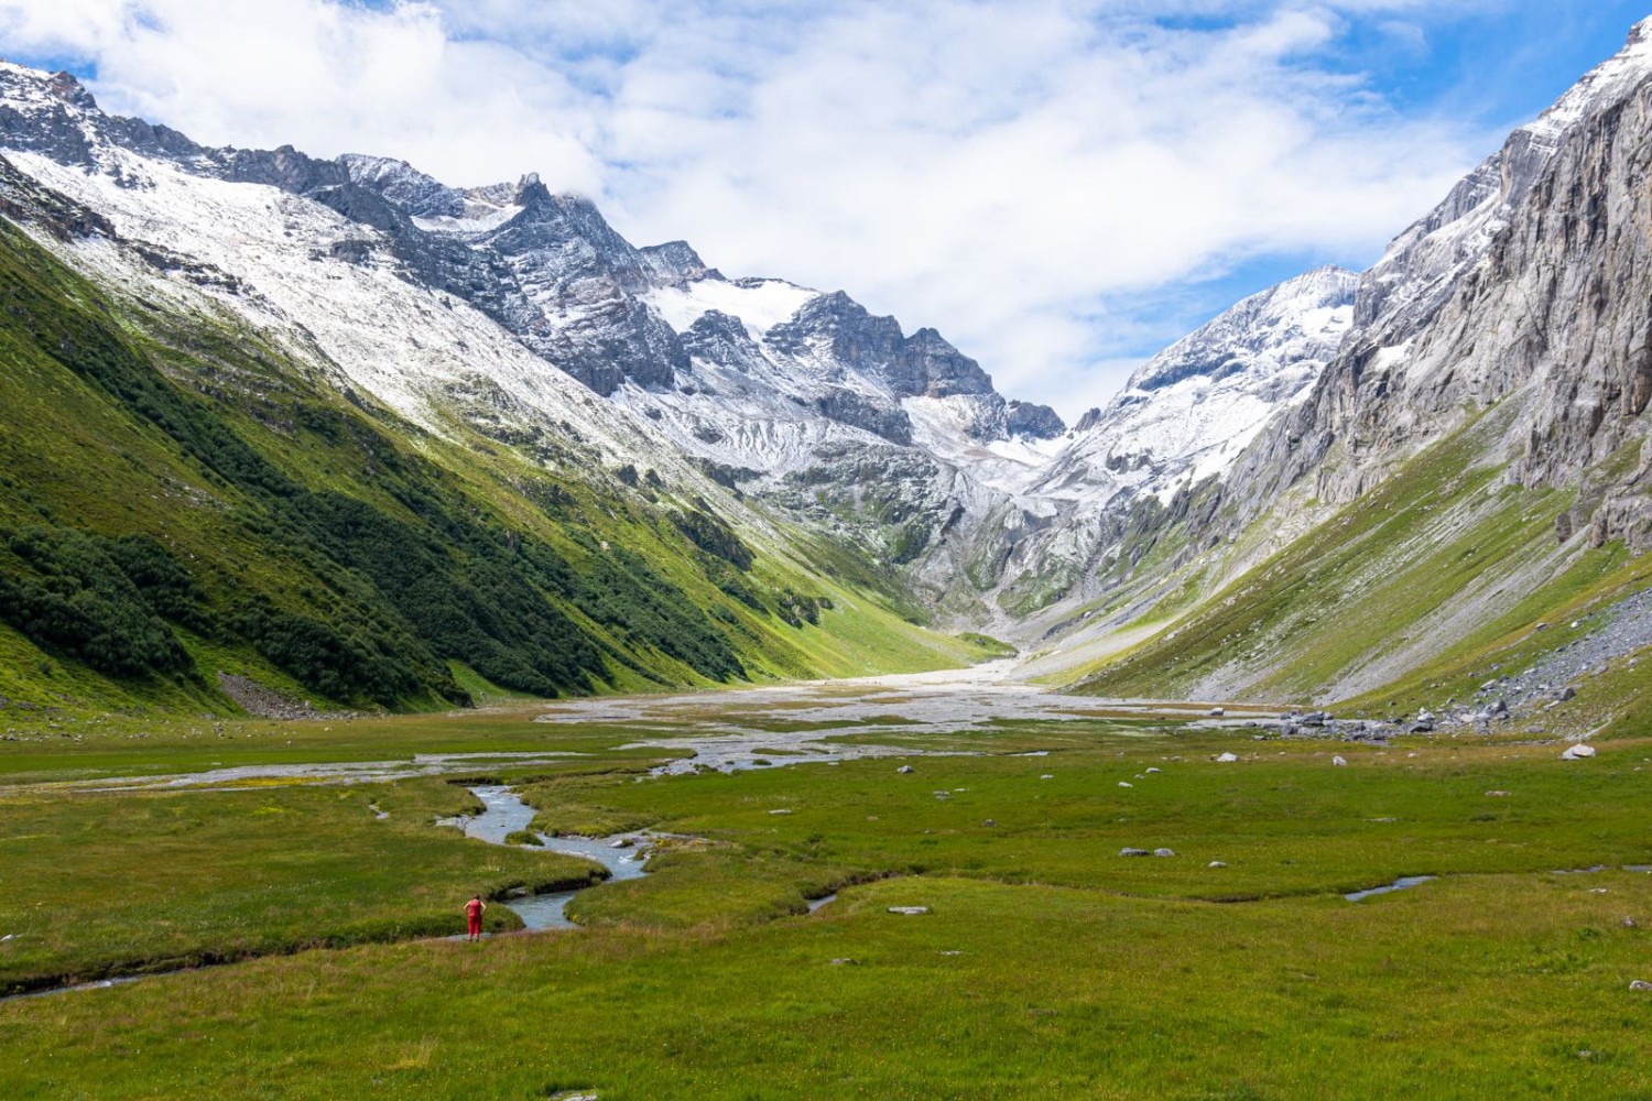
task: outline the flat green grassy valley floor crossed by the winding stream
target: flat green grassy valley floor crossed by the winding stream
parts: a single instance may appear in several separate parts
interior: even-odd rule
[[[1257,741],[1047,698],[948,726],[970,698],[882,682],[0,743],[0,984],[241,961],[0,1004],[0,1093],[1652,1096],[1652,992],[1629,989],[1652,979],[1652,738],[1568,763],[1518,731]],[[648,776],[730,735],[776,766]],[[778,766],[821,744],[836,764]],[[454,751],[540,756],[107,789]],[[453,943],[472,890],[586,875],[434,825],[481,779],[548,832],[671,840],[575,898],[583,929],[507,933],[494,906],[504,936]],[[1441,878],[1343,898],[1403,875]]]

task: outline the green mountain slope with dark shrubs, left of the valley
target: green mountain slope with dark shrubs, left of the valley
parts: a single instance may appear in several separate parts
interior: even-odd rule
[[[8,213],[17,215],[12,201]],[[35,203],[36,226],[64,229]],[[0,695],[226,711],[920,669],[899,588],[753,548],[657,475],[431,439],[244,324],[96,287],[0,220]],[[231,682],[233,683],[233,682]]]

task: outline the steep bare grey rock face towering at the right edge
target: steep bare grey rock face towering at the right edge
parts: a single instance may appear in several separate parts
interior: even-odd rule
[[[1254,515],[1305,477],[1353,500],[1482,409],[1513,403],[1488,456],[1523,485],[1579,485],[1559,536],[1652,546],[1652,45],[1645,25],[1517,130],[1360,281],[1358,328],[1310,401],[1236,469]],[[1584,472],[1579,477],[1579,472]]]

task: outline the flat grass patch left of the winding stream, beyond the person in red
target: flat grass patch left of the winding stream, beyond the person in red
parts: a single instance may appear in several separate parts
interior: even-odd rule
[[[430,781],[3,799],[0,852],[20,890],[0,901],[13,938],[0,990],[443,936],[463,931],[471,891],[591,881],[582,860],[431,825],[472,807]],[[502,906],[487,919],[520,928]]]

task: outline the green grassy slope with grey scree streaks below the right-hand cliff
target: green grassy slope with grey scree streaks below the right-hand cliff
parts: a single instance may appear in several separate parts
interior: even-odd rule
[[[1318,510],[1325,518],[1237,576],[1232,563],[1277,532],[1292,500],[1234,545],[1188,560],[1178,576],[1196,591],[1191,606],[1090,669],[1080,690],[1383,715],[1467,700],[1500,670],[1559,650],[1576,632],[1550,624],[1652,576],[1621,541],[1558,538],[1573,490],[1505,480],[1497,446],[1517,413],[1518,401],[1493,406],[1353,505]]]

